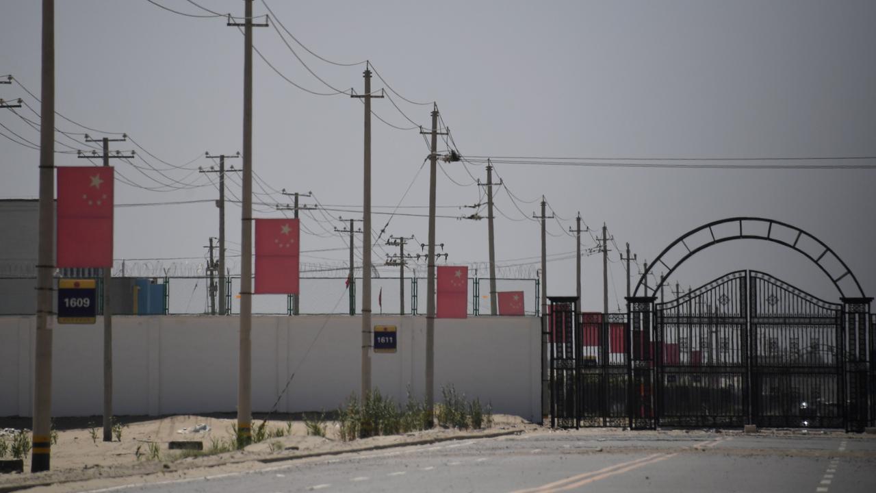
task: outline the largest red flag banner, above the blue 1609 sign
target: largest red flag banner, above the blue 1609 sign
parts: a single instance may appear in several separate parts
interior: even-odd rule
[[[59,268],[112,268],[113,168],[58,168]]]

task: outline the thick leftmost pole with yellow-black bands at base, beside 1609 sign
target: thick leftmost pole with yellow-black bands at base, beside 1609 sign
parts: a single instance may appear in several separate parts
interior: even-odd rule
[[[39,111],[39,241],[37,333],[34,347],[31,472],[49,470],[52,447],[52,298],[54,285],[54,0],[43,0]]]

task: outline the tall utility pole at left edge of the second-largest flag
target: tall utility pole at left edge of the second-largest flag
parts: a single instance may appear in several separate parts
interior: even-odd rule
[[[240,212],[240,345],[237,359],[237,443],[252,438],[252,1],[244,0],[244,22],[227,25],[244,28],[244,175]]]

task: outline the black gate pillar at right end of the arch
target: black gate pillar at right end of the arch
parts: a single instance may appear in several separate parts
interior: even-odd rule
[[[873,385],[873,328],[870,317],[870,304],[873,298],[844,297],[843,327],[845,357],[845,417],[847,432],[863,432],[872,425],[876,396],[872,395]]]

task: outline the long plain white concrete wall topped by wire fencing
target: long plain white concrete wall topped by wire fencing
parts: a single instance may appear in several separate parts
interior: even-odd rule
[[[425,386],[426,319],[373,317],[397,325],[399,350],[372,354],[372,385],[406,400]],[[359,391],[362,321],[350,316],[254,317],[252,402],[278,411],[333,410]],[[31,416],[35,318],[0,317],[0,416]],[[102,318],[54,325],[53,416],[102,413]],[[113,317],[114,411],[161,415],[235,411],[239,318]],[[493,410],[540,417],[540,325],[533,317],[435,321],[435,400],[452,383]]]

